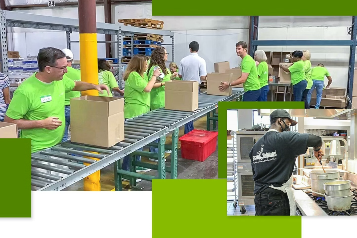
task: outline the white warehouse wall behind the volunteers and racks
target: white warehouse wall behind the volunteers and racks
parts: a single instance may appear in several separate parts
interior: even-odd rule
[[[199,54],[207,62],[207,71],[213,71],[213,63],[230,61],[231,67],[240,65],[236,56],[235,43],[248,42],[248,16],[152,16],[151,4],[127,4],[112,7],[112,21],[126,18],[151,18],[164,21],[164,30],[175,31],[175,62],[189,54],[188,44],[196,40],[200,43]],[[40,15],[78,18],[77,7],[21,10]],[[104,6],[97,6],[97,21],[104,22]],[[347,27],[351,26],[350,16],[261,16],[259,40],[348,40]],[[9,49],[20,51],[22,56],[35,55],[41,47],[66,47],[65,32],[51,32],[34,29],[12,29],[12,44]],[[78,33],[71,35],[78,40]],[[104,40],[104,35],[98,35]],[[164,38],[170,43],[170,38]],[[26,44],[24,44],[26,42]],[[171,46],[165,46],[171,52]],[[259,47],[266,51],[293,51],[308,49],[312,54],[313,66],[323,63],[331,72],[332,86],[347,87],[349,47],[310,46],[310,47]],[[75,59],[79,59],[79,44],[72,44]],[[105,44],[98,44],[98,57],[105,57]],[[171,59],[171,54],[169,55]]]

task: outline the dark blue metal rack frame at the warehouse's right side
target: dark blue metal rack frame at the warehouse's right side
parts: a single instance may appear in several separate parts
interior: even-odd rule
[[[350,46],[348,63],[348,108],[352,107],[353,71],[357,46],[357,16],[352,16],[351,40],[258,40],[259,16],[250,16],[249,55],[254,56],[258,46]]]

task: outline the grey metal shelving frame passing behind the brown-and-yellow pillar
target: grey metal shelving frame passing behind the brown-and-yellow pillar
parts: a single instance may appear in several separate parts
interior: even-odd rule
[[[1,10],[0,12],[0,35],[1,35],[1,70],[4,74],[8,74],[8,60],[7,60],[7,36],[6,27],[21,27],[21,28],[31,28],[31,29],[42,29],[42,30],[56,30],[56,31],[66,31],[67,35],[67,48],[71,48],[71,43],[78,43],[79,41],[71,41],[71,33],[74,31],[79,31],[79,24],[77,19],[54,17],[54,16],[44,16],[37,14],[29,14],[24,12],[16,11],[6,11]],[[107,34],[115,35],[115,41],[98,41],[98,43],[111,43],[117,46],[117,60],[118,60],[118,81],[119,87],[122,87],[122,36],[132,36],[134,34],[155,34],[171,37],[172,46],[172,60],[175,58],[175,37],[172,31],[163,31],[156,29],[147,29],[135,26],[124,26],[119,24],[110,24],[97,22],[97,34]]]

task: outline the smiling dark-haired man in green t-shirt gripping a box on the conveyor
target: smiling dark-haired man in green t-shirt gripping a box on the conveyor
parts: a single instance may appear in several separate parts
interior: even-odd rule
[[[231,83],[222,82],[222,84],[219,86],[219,89],[221,91],[224,91],[228,87],[240,85],[241,83],[243,83],[243,101],[255,102],[258,101],[258,98],[261,93],[261,87],[258,79],[256,62],[250,55],[247,54],[247,49],[247,43],[244,41],[240,41],[236,44],[237,55],[242,58],[242,76]]]

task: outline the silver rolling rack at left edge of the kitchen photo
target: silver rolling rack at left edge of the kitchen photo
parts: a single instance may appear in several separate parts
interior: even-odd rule
[[[233,207],[237,207],[238,201],[238,172],[237,172],[237,136],[231,132],[232,143],[227,142],[227,202],[233,201]],[[230,193],[234,192],[233,199]]]

